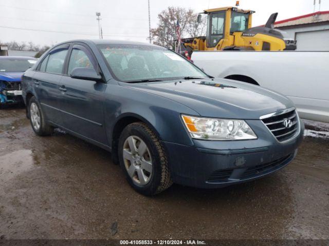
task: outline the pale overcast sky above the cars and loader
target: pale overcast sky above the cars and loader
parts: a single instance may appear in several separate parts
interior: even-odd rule
[[[240,7],[256,11],[253,26],[265,24],[269,15],[278,20],[313,12],[314,0],[241,0]],[[316,0],[318,11],[318,2]],[[150,0],[151,27],[157,14],[168,6],[208,8],[234,6],[234,0]],[[321,10],[329,10],[329,0],[321,0]],[[69,39],[98,38],[95,12],[101,12],[104,39],[147,42],[148,0],[0,0],[0,41],[32,41],[52,45]]]

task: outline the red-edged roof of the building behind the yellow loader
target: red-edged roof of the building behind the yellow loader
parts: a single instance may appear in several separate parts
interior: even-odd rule
[[[275,23],[275,27],[297,26],[304,24],[315,24],[321,22],[329,22],[329,11],[318,11],[311,14],[305,14],[294,18],[279,20]]]

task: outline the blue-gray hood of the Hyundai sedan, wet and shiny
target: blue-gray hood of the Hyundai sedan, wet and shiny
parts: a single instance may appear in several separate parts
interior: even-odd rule
[[[230,79],[122,85],[175,100],[205,117],[259,119],[262,115],[294,107],[290,99],[277,92]]]

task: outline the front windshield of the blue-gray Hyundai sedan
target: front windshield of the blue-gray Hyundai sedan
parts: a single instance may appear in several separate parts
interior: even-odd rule
[[[208,77],[166,48],[148,45],[99,45],[99,48],[115,77],[124,82]]]

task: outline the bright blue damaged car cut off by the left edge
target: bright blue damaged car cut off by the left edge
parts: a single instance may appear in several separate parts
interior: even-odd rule
[[[0,56],[0,106],[23,102],[21,77],[35,62],[33,57]]]

